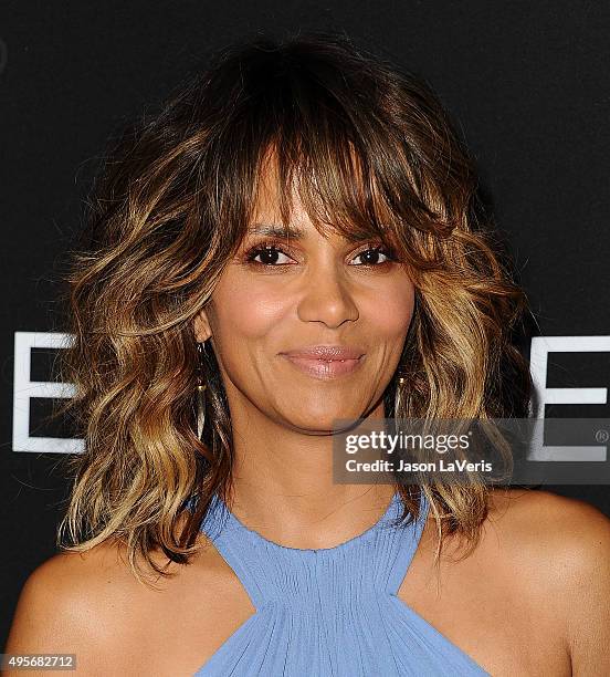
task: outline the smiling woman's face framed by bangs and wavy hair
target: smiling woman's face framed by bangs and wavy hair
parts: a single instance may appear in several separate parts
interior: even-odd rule
[[[297,232],[265,236],[265,227],[282,230],[274,187],[263,181],[252,232],[194,323],[198,341],[211,335],[231,417],[253,407],[305,434],[332,431],[337,418],[382,417],[380,398],[402,352],[414,287],[400,263],[376,249],[380,243],[325,239],[296,194]],[[295,354],[320,345],[354,355],[340,363]]]

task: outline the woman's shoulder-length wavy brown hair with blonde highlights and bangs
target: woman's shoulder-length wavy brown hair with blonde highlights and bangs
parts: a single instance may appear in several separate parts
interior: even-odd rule
[[[193,320],[239,249],[271,154],[285,223],[294,183],[320,231],[380,238],[409,267],[416,311],[386,416],[526,415],[529,368],[514,344],[526,296],[437,96],[346,38],[259,37],[217,53],[101,166],[66,275],[62,379],[85,449],[70,459],[61,548],[116,540],[138,579],[170,575],[152,552],[188,563],[213,493],[228,496],[231,419],[211,346],[197,434]],[[401,519],[424,492],[439,544],[458,533],[474,545],[488,487],[397,490]]]

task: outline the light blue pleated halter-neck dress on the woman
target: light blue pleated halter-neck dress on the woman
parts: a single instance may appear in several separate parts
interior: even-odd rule
[[[395,677],[488,675],[397,597],[421,538],[420,519],[381,519],[327,549],[286,548],[248,529],[214,496],[201,524],[235,572],[256,612],[197,677]]]

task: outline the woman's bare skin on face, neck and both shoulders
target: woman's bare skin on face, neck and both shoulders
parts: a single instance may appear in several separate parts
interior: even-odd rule
[[[253,223],[280,222],[272,186]],[[383,416],[414,290],[396,263],[354,265],[364,243],[323,238],[293,197],[304,237],[284,242],[275,261],[286,265],[238,256],[194,331],[214,347],[231,408],[233,513],[283,545],[332,548],[372,525],[392,493],[333,485],[328,433],[334,418]],[[323,382],[278,355],[319,343],[361,345],[367,360]],[[124,548],[51,558],[29,576],[4,650],[76,653],[77,674],[94,677],[192,675],[255,613],[203,534],[200,543],[158,592],[133,577]],[[433,571],[435,544],[429,519],[398,597],[494,677],[610,674],[610,520],[599,510],[546,491],[494,492],[471,556],[450,542]]]

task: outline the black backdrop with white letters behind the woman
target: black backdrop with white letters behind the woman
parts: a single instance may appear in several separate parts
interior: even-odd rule
[[[96,158],[112,132],[161,101],[210,50],[259,29],[340,30],[428,80],[476,158],[537,333],[558,337],[544,369],[546,387],[572,388],[572,403],[588,394],[593,403],[556,404],[554,416],[610,416],[610,4],[3,2],[2,644],[23,581],[55,551],[67,489],[56,468],[65,457],[53,452],[52,441],[32,442],[61,434],[44,429],[50,400],[32,397],[28,412],[15,369],[25,360],[31,381],[51,378],[48,353],[30,348],[36,336],[42,345],[62,331],[57,274]],[[21,450],[23,429],[36,451]],[[606,486],[551,489],[610,514]]]

